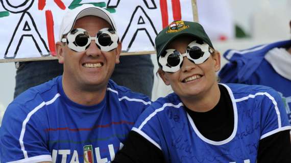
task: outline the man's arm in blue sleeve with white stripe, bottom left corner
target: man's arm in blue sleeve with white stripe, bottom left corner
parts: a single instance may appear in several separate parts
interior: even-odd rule
[[[1,162],[42,162],[52,161],[51,152],[46,148],[43,122],[25,105],[11,103],[3,117],[0,132]]]

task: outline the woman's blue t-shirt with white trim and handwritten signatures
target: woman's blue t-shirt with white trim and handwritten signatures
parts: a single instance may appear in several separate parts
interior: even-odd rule
[[[261,139],[291,129],[282,99],[270,87],[223,86],[234,115],[234,128],[226,140],[205,138],[175,93],[153,102],[132,130],[162,150],[166,162],[256,162]]]

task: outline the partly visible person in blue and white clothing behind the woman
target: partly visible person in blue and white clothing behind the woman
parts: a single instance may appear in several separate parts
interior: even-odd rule
[[[291,29],[291,21],[289,21]],[[291,123],[291,40],[227,50],[229,61],[219,73],[221,83],[263,85],[279,92]]]

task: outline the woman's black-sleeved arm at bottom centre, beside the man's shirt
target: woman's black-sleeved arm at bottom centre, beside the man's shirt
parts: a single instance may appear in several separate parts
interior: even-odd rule
[[[114,163],[165,162],[162,151],[135,131],[129,132],[124,147],[119,150]],[[112,163],[113,163],[112,162]]]

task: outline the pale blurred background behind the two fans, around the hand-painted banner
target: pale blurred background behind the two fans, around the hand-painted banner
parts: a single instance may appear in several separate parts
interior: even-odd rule
[[[214,48],[223,53],[259,44],[291,39],[290,0],[197,0],[199,22],[204,26]],[[158,67],[156,56],[152,55]],[[227,61],[222,57],[222,66]],[[14,63],[0,63],[0,126],[8,104],[13,100],[16,68]],[[172,92],[155,76],[152,100]]]

